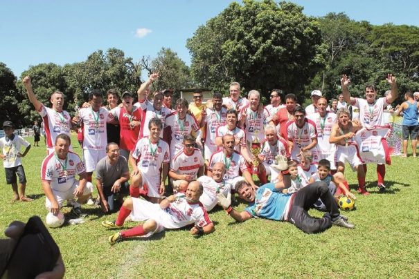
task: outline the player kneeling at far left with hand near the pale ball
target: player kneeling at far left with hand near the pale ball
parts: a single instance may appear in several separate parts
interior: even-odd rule
[[[81,205],[93,191],[93,185],[87,182],[83,162],[77,154],[69,151],[71,139],[66,134],[55,138],[55,152],[45,157],[41,165],[42,189],[44,189],[45,206],[57,215],[64,200],[78,198],[73,202],[72,213],[82,216]],[[75,179],[75,175],[79,180]],[[80,202],[80,203],[79,203]]]

